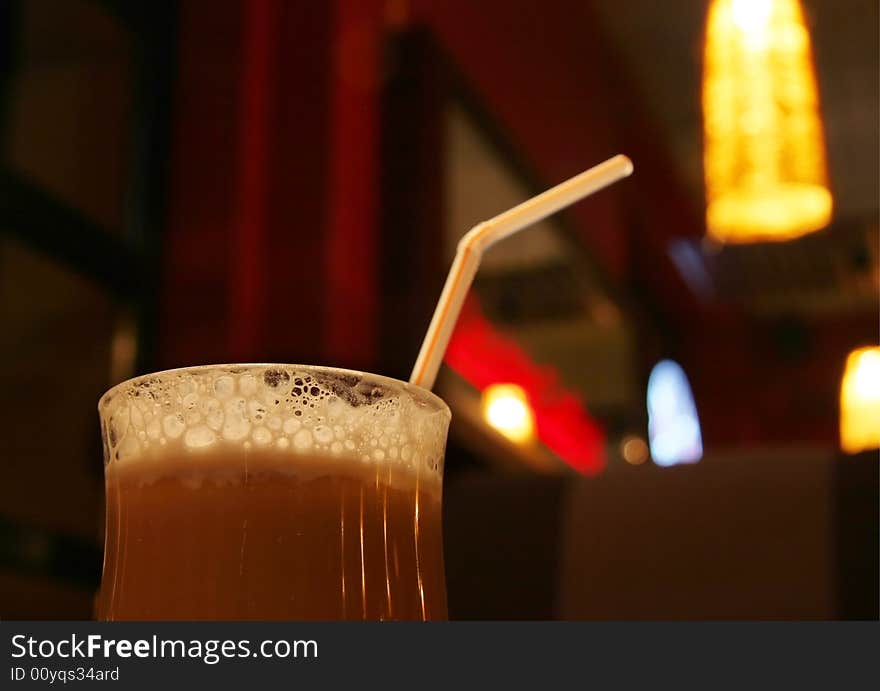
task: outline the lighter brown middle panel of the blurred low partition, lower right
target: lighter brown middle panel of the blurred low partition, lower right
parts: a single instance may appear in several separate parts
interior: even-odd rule
[[[834,618],[839,462],[810,449],[742,451],[574,482],[560,616]]]

